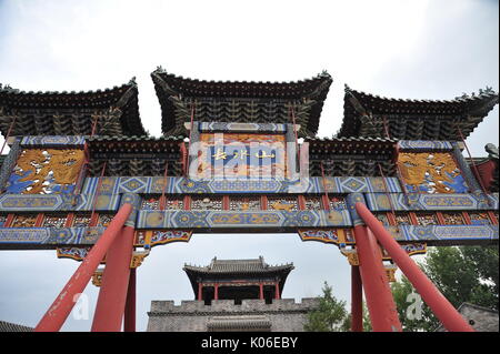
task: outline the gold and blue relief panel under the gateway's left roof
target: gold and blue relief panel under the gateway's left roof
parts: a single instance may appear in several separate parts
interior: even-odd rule
[[[72,193],[83,164],[83,150],[27,149],[7,185],[8,193]]]

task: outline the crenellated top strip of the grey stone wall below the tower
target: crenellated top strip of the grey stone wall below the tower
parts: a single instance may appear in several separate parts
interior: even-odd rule
[[[269,313],[269,312],[308,312],[317,307],[318,299],[302,299],[296,303],[294,299],[273,299],[271,304],[266,304],[264,300],[243,300],[241,305],[237,305],[234,300],[213,300],[211,305],[206,305],[203,301],[182,301],[176,305],[173,301],[152,301],[150,316],[168,315],[199,315],[221,314],[221,313]]]

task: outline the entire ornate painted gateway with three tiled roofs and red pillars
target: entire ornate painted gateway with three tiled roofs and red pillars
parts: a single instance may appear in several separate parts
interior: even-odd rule
[[[353,331],[362,289],[373,328],[401,331],[396,266],[448,330],[471,330],[408,255],[498,244],[498,150],[472,159],[464,144],[498,93],[416,101],[346,87],[341,129],[321,139],[326,72],[281,83],[151,77],[160,138],[142,127],[133,80],[92,92],[0,87],[10,146],[0,249],[82,261],[38,331],[58,331],[90,279],[101,286],[92,331],[120,331],[123,317],[133,331],[134,269],[152,247],[249,231],[337,245],[352,265]]]

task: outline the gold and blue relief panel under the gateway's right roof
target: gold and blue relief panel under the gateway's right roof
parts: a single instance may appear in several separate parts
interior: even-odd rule
[[[401,152],[398,164],[410,193],[467,193],[468,186],[450,153]]]

